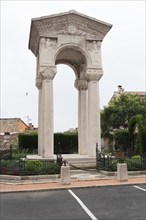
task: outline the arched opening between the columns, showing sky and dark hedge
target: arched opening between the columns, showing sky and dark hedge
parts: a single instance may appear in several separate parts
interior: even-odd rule
[[[54,88],[54,154],[78,152],[78,91],[74,87],[75,72],[59,64],[53,80]],[[72,133],[72,134],[71,134]]]

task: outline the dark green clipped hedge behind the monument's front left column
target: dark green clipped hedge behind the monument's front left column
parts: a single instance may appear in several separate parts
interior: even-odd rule
[[[18,140],[19,140],[20,150],[27,149],[28,152],[33,152],[34,150],[38,149],[38,134],[36,132],[19,134]],[[78,153],[78,134],[55,133],[54,153],[55,154]]]

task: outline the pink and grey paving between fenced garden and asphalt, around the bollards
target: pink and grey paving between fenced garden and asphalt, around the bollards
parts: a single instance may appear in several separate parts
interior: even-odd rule
[[[48,177],[30,177],[25,180],[13,178],[3,179],[1,176],[0,192],[15,192],[15,191],[40,191],[53,189],[71,189],[82,187],[97,187],[97,186],[114,186],[114,185],[129,185],[146,183],[146,175],[129,176],[128,181],[118,181],[116,176],[106,176],[97,171],[72,171],[71,184],[62,185],[58,176]]]

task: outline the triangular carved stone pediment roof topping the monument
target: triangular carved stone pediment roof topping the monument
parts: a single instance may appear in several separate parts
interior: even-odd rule
[[[57,37],[60,34],[84,36],[86,39],[102,41],[111,27],[111,24],[74,10],[35,18],[31,21],[29,49],[35,53],[40,37]]]

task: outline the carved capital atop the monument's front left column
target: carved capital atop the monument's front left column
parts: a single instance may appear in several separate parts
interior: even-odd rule
[[[39,69],[39,75],[42,79],[52,79],[56,75],[56,66],[41,66]]]

